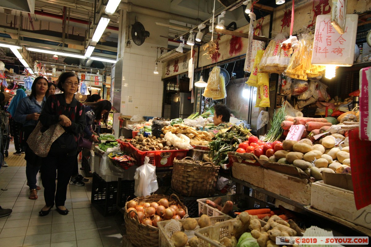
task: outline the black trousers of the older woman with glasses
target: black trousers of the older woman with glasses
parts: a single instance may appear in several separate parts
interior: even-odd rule
[[[64,206],[67,186],[71,178],[76,156],[45,157],[42,162],[41,181],[44,187],[46,206]],[[57,185],[55,178],[57,176]]]

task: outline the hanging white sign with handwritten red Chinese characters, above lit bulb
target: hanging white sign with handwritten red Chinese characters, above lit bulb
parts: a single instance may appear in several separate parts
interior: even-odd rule
[[[347,14],[344,34],[331,24],[331,15],[319,15],[314,33],[312,64],[352,66],[358,14]]]

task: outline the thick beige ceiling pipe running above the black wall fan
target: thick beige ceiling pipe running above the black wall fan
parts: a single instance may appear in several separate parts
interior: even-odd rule
[[[118,9],[126,10],[128,12],[135,12],[138,14],[146,14],[148,16],[154,16],[154,17],[158,17],[162,19],[181,21],[181,22],[185,22],[185,23],[189,23],[193,25],[197,25],[201,22],[200,19],[195,19],[195,18],[191,18],[188,16],[181,16],[179,14],[174,14],[174,13],[170,13],[170,12],[166,12],[162,10],[151,9],[148,7],[143,7],[143,6],[135,5],[132,3],[121,2],[118,5]]]

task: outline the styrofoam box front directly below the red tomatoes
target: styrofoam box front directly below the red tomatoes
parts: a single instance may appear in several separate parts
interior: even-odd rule
[[[264,188],[264,168],[261,166],[233,162],[232,176],[257,187]]]

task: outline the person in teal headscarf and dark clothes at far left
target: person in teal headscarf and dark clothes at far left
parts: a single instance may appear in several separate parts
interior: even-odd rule
[[[19,122],[14,121],[14,114],[16,113],[16,109],[18,106],[18,103],[20,100],[23,98],[27,97],[26,93],[24,92],[23,89],[17,89],[16,95],[13,97],[12,101],[10,101],[9,107],[8,107],[8,112],[10,113],[10,119],[9,119],[9,124],[10,124],[10,135],[13,137],[14,140],[14,147],[16,151],[13,153],[14,155],[21,155],[24,154],[24,149],[20,144],[20,139],[19,139],[19,133],[22,128],[22,124]]]

